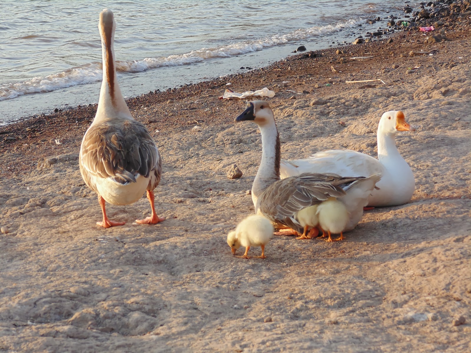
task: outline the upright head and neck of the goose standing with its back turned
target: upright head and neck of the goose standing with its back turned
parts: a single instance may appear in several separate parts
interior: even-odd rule
[[[113,118],[130,118],[129,111],[116,75],[114,61],[114,23],[109,17],[103,17],[100,21],[101,48],[103,57],[103,81],[101,82],[100,98],[98,100],[97,115],[95,120],[107,120]]]

